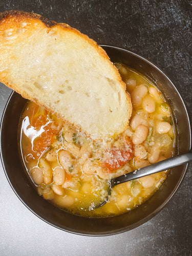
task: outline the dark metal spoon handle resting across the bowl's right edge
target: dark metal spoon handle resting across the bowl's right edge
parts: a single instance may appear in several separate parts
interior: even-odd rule
[[[135,180],[151,174],[156,174],[162,172],[163,170],[167,170],[175,166],[188,163],[190,161],[192,161],[192,151],[189,151],[183,155],[165,159],[163,161],[134,170],[134,172],[127,173],[111,179],[111,187],[114,187],[116,184],[124,183],[126,181]]]

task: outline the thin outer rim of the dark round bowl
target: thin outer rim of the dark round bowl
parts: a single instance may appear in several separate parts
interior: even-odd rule
[[[123,48],[119,48],[119,47],[114,47],[114,46],[110,46],[110,45],[100,45],[101,47],[104,48],[108,48],[108,49],[115,49],[115,50],[119,50],[119,51],[125,51],[125,52],[129,52],[130,54],[133,54],[134,56],[136,56],[137,58],[139,57],[140,59],[142,59],[143,61],[146,61],[148,62],[149,65],[152,65],[154,68],[156,68],[163,76],[165,76],[168,81],[172,84],[172,86],[174,87],[175,91],[177,92],[182,104],[183,104],[183,107],[184,107],[184,110],[185,110],[185,114],[186,114],[186,118],[187,118],[187,121],[188,121],[188,128],[189,128],[189,150],[191,149],[191,127],[190,127],[190,119],[189,119],[189,115],[188,115],[188,112],[187,112],[187,109],[186,109],[186,105],[179,93],[179,91],[177,90],[177,88],[175,87],[174,83],[170,80],[170,78],[165,74],[165,72],[159,68],[154,62],[152,62],[151,60],[141,56],[140,54],[137,54],[133,51],[130,51],[130,50],[126,50],[126,49],[123,49]],[[7,111],[7,108],[8,108],[8,105],[11,101],[11,98],[12,96],[16,94],[15,91],[12,91],[9,95],[9,98],[6,102],[6,105],[5,105],[5,108],[4,108],[4,111],[3,111],[3,114],[2,114],[2,118],[1,118],[1,123],[0,123],[0,158],[1,158],[1,162],[2,162],[2,166],[3,166],[3,169],[4,169],[4,173],[5,173],[5,176],[11,186],[11,188],[13,189],[15,195],[18,197],[18,199],[31,211],[33,212],[33,214],[35,216],[37,216],[39,219],[41,219],[42,221],[50,224],[51,226],[54,226],[60,230],[63,230],[63,231],[66,231],[66,232],[69,232],[69,233],[73,233],[73,234],[79,234],[79,235],[82,235],[82,236],[92,236],[92,237],[101,237],[101,236],[111,236],[111,235],[114,235],[114,234],[118,234],[118,233],[122,233],[122,232],[126,232],[126,231],[129,231],[129,230],[132,230],[142,224],[144,224],[145,222],[147,222],[148,220],[152,219],[155,215],[158,214],[158,212],[160,212],[164,207],[165,205],[173,198],[173,196],[175,195],[177,189],[179,188],[180,184],[183,182],[183,178],[186,174],[186,170],[187,170],[187,167],[188,167],[188,164],[185,164],[184,165],[184,171],[183,171],[183,174],[182,176],[180,177],[178,183],[175,185],[175,188],[172,190],[172,193],[170,193],[170,195],[166,198],[166,200],[158,207],[156,208],[155,210],[153,210],[151,212],[150,215],[147,215],[146,217],[144,217],[142,220],[134,223],[134,224],[131,224],[128,227],[123,227],[123,228],[119,228],[119,229],[116,229],[116,230],[112,230],[112,231],[103,231],[103,232],[77,232],[77,231],[74,231],[74,230],[70,230],[70,229],[65,229],[65,228],[62,228],[62,227],[59,227],[53,223],[51,223],[50,221],[44,219],[43,217],[41,217],[39,214],[37,214],[37,212],[35,212],[30,206],[28,206],[27,203],[25,203],[25,201],[18,195],[18,193],[16,192],[14,186],[12,185],[10,179],[9,179],[9,176],[6,172],[6,167],[5,167],[5,164],[4,164],[4,159],[3,159],[3,154],[2,154],[2,130],[3,130],[3,122],[4,122],[4,118],[5,118],[5,114],[6,114],[6,111]],[[22,97],[22,96],[20,96]],[[81,217],[81,218],[88,218],[88,217]],[[108,217],[108,218],[113,218],[113,217]],[[90,218],[88,218],[90,219]],[[95,218],[91,218],[91,219],[95,219]]]

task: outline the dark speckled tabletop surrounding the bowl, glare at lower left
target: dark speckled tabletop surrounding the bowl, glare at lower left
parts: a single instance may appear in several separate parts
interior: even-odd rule
[[[0,0],[0,11],[36,12],[65,22],[98,44],[135,51],[175,83],[192,120],[192,2],[187,0]],[[1,54],[1,53],[0,53]],[[0,85],[0,117],[11,90]],[[0,165],[1,255],[192,255],[191,164],[173,199],[152,220],[111,237],[82,237],[34,216],[14,195]]]

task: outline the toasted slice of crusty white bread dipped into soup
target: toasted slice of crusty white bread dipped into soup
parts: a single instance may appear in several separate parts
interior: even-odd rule
[[[105,51],[64,23],[0,13],[0,81],[93,138],[122,133],[130,95]]]

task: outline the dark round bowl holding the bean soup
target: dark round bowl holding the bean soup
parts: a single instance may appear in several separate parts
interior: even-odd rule
[[[190,125],[184,102],[169,78],[151,61],[123,49],[103,46],[111,60],[122,62],[148,78],[163,92],[172,108],[176,124],[177,150],[182,154],[190,149]],[[36,216],[62,230],[87,236],[106,236],[133,229],[155,216],[173,197],[187,165],[170,170],[156,193],[145,203],[126,214],[109,218],[84,218],[69,214],[39,197],[24,172],[19,158],[17,129],[26,99],[13,92],[7,102],[1,122],[1,158],[7,179],[18,198]]]

